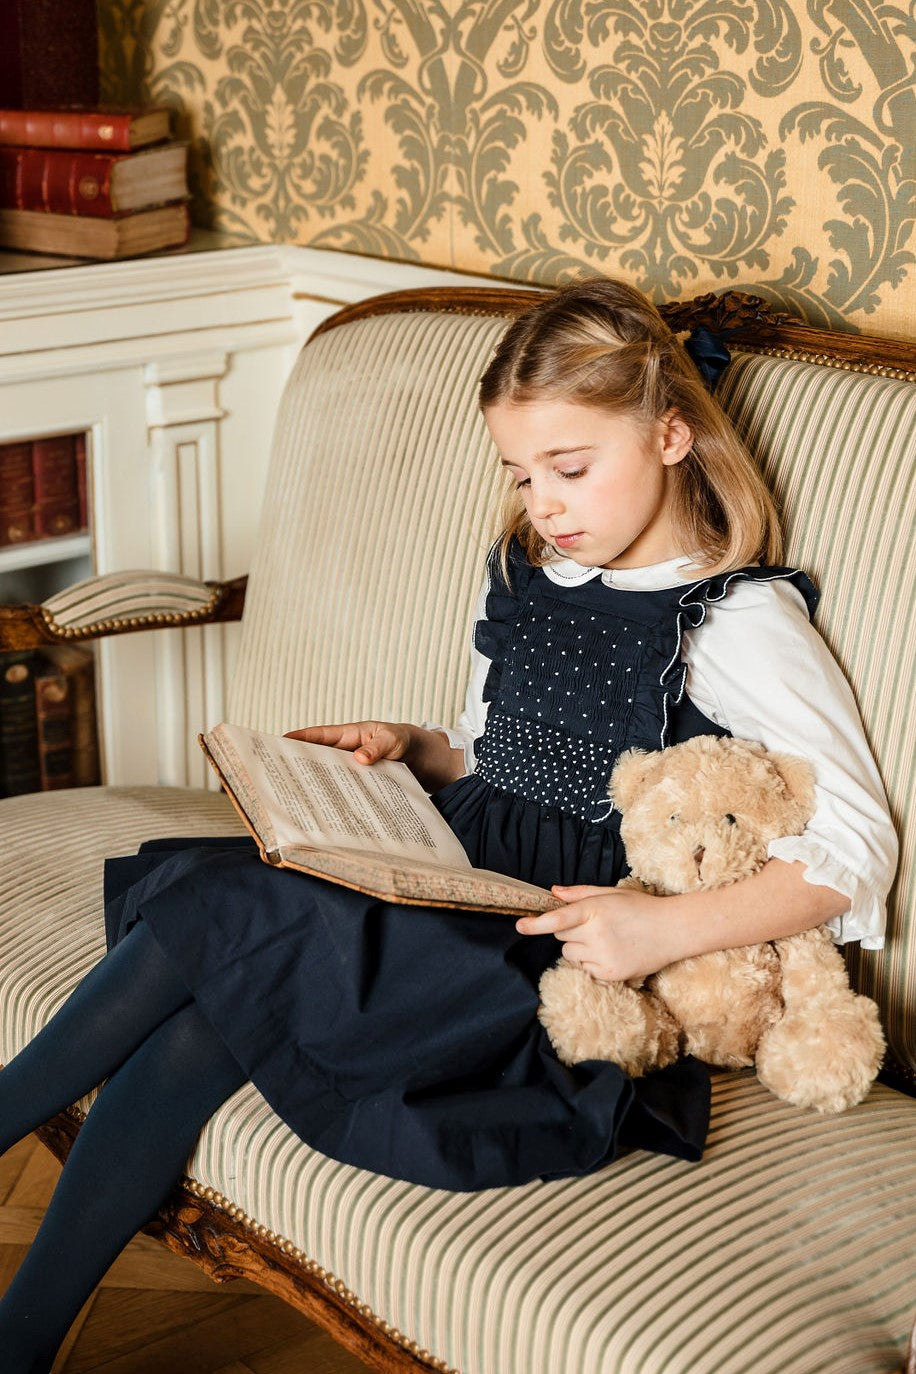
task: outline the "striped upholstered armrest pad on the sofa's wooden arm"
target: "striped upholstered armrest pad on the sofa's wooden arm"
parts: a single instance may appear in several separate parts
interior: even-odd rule
[[[99,632],[114,621],[169,621],[199,614],[214,602],[206,583],[180,573],[122,572],[87,577],[41,603],[58,631]]]

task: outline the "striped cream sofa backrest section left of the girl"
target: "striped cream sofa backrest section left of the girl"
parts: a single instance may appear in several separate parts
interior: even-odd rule
[[[380,316],[302,352],[275,434],[231,720],[456,719],[501,481],[474,394],[503,328]]]

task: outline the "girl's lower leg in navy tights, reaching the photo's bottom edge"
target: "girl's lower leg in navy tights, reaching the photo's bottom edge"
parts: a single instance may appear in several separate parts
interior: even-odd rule
[[[47,1374],[92,1289],[166,1200],[206,1120],[244,1081],[194,1003],[108,1079],[0,1300],[4,1374]]]

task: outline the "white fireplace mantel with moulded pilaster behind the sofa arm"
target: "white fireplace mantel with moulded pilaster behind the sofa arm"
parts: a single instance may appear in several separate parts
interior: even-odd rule
[[[280,392],[320,320],[379,291],[475,280],[203,232],[181,253],[30,268],[0,254],[0,442],[87,431],[87,572],[203,578],[250,566]],[[222,719],[238,632],[99,646],[108,783],[210,786],[195,739]]]

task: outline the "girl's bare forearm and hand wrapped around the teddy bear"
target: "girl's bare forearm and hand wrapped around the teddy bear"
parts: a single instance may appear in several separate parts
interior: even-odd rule
[[[713,949],[799,934],[840,915],[849,900],[805,881],[805,864],[770,859],[725,888],[654,897],[632,888],[553,888],[566,905],[516,922],[522,934],[555,934],[563,955],[596,978],[645,978]]]

